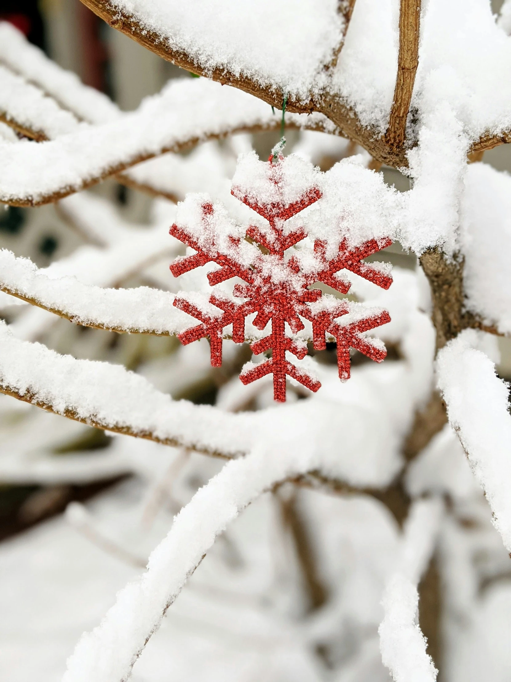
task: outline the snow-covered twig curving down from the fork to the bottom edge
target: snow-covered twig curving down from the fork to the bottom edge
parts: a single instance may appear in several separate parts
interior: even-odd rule
[[[279,457],[261,450],[228,462],[196,493],[151,553],[147,572],[138,582],[127,584],[102,623],[82,636],[67,661],[63,682],[120,682],[129,677],[149,638],[217,535],[264,490],[310,468],[308,438],[306,447],[300,447],[298,439],[286,445]]]

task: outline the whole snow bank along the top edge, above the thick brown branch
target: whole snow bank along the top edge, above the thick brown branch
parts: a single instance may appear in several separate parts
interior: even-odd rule
[[[301,0],[298,6],[289,0],[278,5],[114,0],[112,5],[206,72],[226,70],[303,99],[326,86],[354,106],[362,123],[386,128],[397,69],[397,0],[356,2],[332,80],[322,67],[342,35],[334,0]],[[275,38],[268,27],[275,27]],[[510,68],[511,44],[486,0],[423,3],[412,99],[420,122],[444,102],[471,139],[510,128],[511,87],[502,85]]]

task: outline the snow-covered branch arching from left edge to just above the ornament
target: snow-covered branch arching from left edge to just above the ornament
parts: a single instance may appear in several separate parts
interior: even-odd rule
[[[295,116],[290,123],[335,132],[318,115]],[[269,106],[245,93],[206,79],[183,78],[142,102],[136,112],[109,123],[82,124],[76,132],[37,145],[0,143],[0,202],[34,206],[57,201],[166,151],[279,125]]]

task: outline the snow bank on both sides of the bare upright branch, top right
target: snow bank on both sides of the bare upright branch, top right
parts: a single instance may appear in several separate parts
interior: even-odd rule
[[[398,0],[357,0],[330,86],[354,106],[364,125],[381,132],[388,125],[394,94],[398,21]],[[411,104],[419,126],[444,104],[470,140],[509,129],[510,68],[511,42],[496,25],[487,0],[422,3]]]

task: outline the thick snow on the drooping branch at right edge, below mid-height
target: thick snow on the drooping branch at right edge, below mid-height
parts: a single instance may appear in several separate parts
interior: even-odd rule
[[[438,387],[450,425],[493,511],[493,522],[511,551],[511,417],[509,386],[478,348],[482,333],[465,329],[439,351]]]

